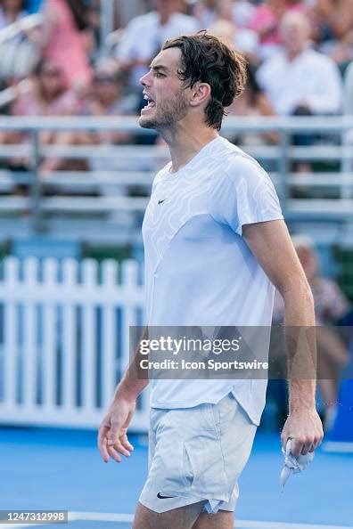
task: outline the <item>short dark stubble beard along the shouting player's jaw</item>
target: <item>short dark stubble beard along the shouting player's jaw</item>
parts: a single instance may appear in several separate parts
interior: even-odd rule
[[[172,101],[160,102],[153,116],[149,117],[142,114],[139,118],[139,124],[143,128],[162,130],[173,127],[177,121],[185,118],[186,114],[187,104],[184,94],[181,93]]]

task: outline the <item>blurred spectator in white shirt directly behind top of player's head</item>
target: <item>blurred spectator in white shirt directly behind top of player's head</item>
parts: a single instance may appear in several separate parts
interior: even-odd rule
[[[184,14],[185,0],[152,0],[152,5],[155,11],[130,20],[116,51],[119,66],[131,74],[131,85],[139,93],[139,79],[161,45],[168,38],[199,29],[197,20]]]

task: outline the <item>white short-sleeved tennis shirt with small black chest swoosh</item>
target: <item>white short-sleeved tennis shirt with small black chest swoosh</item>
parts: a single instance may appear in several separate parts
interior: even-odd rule
[[[170,167],[156,175],[144,216],[147,325],[270,326],[275,289],[242,239],[243,224],[283,219],[269,176],[220,136],[176,173]],[[259,424],[266,387],[258,379],[152,379],[151,406],[218,403],[233,391]]]

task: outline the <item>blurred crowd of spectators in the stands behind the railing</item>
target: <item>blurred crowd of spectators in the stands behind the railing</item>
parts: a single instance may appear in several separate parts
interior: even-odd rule
[[[104,54],[103,64],[99,0],[0,0],[0,30],[30,13],[43,15],[39,26],[28,25],[11,38],[0,39],[0,85],[13,88],[13,101],[3,104],[0,112],[136,115],[144,104],[139,78],[163,42],[207,28],[249,61],[248,89],[230,114],[341,113],[342,77],[353,61],[350,0],[141,0],[141,8],[144,14],[117,28],[119,38],[110,57]],[[16,67],[21,61],[21,68]],[[29,82],[19,83],[23,78]],[[11,134],[0,136],[3,143],[12,140]],[[46,134],[45,141],[49,140],[119,143],[127,136]],[[244,134],[235,140],[275,143],[277,136]],[[294,137],[296,144],[310,142],[313,137],[308,135]],[[57,164],[55,160],[46,167]]]

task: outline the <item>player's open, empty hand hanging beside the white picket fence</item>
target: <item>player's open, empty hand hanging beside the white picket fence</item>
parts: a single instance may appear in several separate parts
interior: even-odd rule
[[[134,450],[127,440],[127,427],[134,414],[135,405],[135,401],[117,398],[103,418],[98,431],[98,448],[105,463],[108,463],[110,456],[117,463],[121,463],[118,452],[129,457]]]

